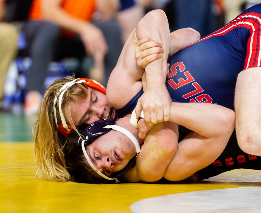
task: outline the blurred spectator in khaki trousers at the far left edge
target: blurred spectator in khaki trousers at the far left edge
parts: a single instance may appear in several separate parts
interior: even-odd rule
[[[2,22],[4,16],[5,2],[0,0],[0,107],[4,95],[5,76],[16,54],[18,34],[13,25]]]

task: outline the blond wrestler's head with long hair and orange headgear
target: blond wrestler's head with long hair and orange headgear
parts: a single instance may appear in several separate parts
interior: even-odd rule
[[[72,84],[72,81],[80,83]],[[93,85],[97,85],[97,88],[95,89]],[[34,125],[37,174],[40,177],[47,175],[48,179],[69,180],[62,149],[67,140],[65,136],[72,129],[78,133],[77,125],[79,125],[77,123],[79,119],[77,121],[72,117],[74,111],[71,110],[71,106],[77,108],[84,100],[89,101],[89,98],[94,99],[95,103],[82,107],[82,110],[88,111],[88,115],[91,116],[86,124],[115,116],[114,109],[107,102],[105,88],[91,79],[75,79],[74,76],[67,76],[57,79],[46,90]],[[103,114],[99,112],[102,110]],[[63,119],[66,122],[65,128],[62,124]]]

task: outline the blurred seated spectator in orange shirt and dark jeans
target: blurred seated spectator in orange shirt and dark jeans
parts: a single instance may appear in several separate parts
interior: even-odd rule
[[[95,20],[91,21],[95,10]],[[90,77],[106,86],[122,49],[121,30],[112,19],[117,10],[118,0],[33,1],[29,21],[24,26],[32,58],[25,113],[37,111],[48,63],[55,55],[91,54],[94,69]]]

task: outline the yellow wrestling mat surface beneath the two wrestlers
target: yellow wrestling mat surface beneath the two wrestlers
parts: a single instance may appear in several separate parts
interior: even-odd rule
[[[92,185],[46,181],[35,177],[33,149],[33,142],[0,142],[0,212],[130,213],[132,212],[130,206],[145,198],[261,185],[261,171],[243,169],[223,173],[198,183],[124,184],[117,182]],[[171,212],[179,211],[173,209]]]

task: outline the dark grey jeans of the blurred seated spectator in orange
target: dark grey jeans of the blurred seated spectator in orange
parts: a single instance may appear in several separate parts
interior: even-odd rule
[[[107,82],[123,47],[121,29],[115,20],[107,22],[95,21],[93,24],[102,30],[109,47],[109,51],[105,56],[105,77]],[[61,38],[60,27],[53,23],[28,21],[23,31],[28,43],[28,54],[32,59],[32,67],[28,72],[27,91],[44,92],[43,81],[46,70],[49,62],[54,57],[84,57],[86,55],[79,35],[70,39]]]

